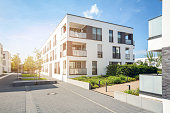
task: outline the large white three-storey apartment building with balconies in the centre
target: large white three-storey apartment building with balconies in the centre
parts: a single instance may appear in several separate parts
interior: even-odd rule
[[[109,64],[134,62],[133,28],[67,14],[41,48],[43,75],[105,75]]]

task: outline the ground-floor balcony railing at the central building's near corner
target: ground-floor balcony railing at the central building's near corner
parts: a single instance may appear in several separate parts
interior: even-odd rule
[[[69,74],[70,75],[87,75],[87,69],[86,68],[70,69]]]

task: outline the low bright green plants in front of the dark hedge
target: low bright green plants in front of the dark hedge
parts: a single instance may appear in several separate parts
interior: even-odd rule
[[[79,80],[83,82],[88,82],[91,84],[92,89],[98,88],[99,87],[99,80],[100,80],[100,86],[105,86],[106,82],[108,85],[113,85],[113,84],[122,84],[127,81],[127,77],[120,75],[119,77],[117,76],[93,76],[93,77],[86,77],[86,76],[80,76],[76,78],[72,78],[74,80]],[[136,81],[135,78],[128,77],[128,82],[131,81]]]

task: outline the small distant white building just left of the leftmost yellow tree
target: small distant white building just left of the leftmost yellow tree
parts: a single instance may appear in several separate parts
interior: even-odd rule
[[[3,51],[3,72],[11,72],[11,54]]]

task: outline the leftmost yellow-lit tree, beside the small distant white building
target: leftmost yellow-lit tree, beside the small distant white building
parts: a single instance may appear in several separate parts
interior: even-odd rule
[[[17,72],[20,63],[21,63],[21,59],[19,58],[19,54],[15,54],[15,55],[12,57],[11,70],[12,70],[13,72]]]

